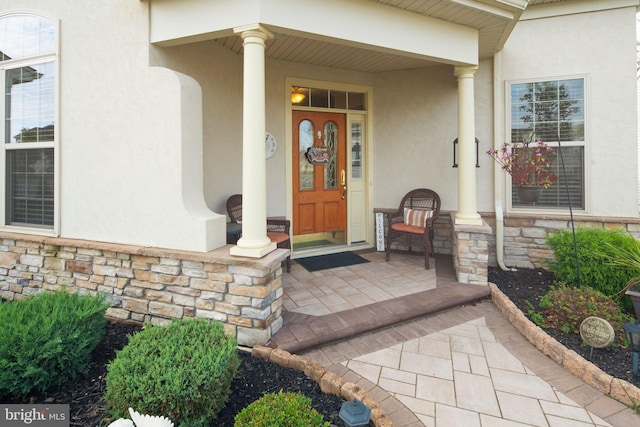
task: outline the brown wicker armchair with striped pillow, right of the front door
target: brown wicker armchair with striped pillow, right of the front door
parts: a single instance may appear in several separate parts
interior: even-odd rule
[[[391,244],[400,243],[411,252],[419,242],[424,249],[424,266],[429,269],[433,249],[433,225],[440,214],[440,196],[426,188],[411,190],[402,198],[396,212],[387,214],[386,260],[391,256]]]

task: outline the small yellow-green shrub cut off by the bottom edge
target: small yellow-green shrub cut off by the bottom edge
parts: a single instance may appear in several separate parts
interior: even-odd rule
[[[324,417],[300,393],[266,393],[235,417],[234,427],[328,427]]]

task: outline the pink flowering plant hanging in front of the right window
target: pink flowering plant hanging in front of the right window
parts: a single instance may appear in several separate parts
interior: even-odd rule
[[[487,154],[511,175],[517,187],[538,185],[549,188],[558,181],[558,176],[549,171],[556,153],[542,141],[535,144],[505,143],[502,148],[492,148]]]

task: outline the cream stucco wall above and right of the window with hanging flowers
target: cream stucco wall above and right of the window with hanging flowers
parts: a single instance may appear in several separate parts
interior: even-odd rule
[[[638,215],[634,40],[635,8],[624,8],[521,21],[502,52],[503,83],[586,77],[589,215]]]

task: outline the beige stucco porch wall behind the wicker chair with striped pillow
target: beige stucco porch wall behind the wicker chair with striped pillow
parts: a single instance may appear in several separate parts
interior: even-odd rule
[[[476,137],[480,168],[478,209],[492,207],[493,64],[481,61],[474,76]],[[458,209],[458,169],[453,141],[458,137],[458,82],[453,67],[381,73],[374,76],[374,205],[397,207],[413,188],[435,190],[442,209]],[[457,157],[459,160],[459,156]]]

